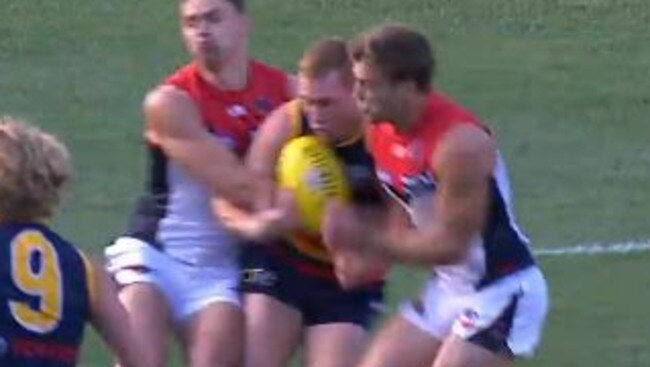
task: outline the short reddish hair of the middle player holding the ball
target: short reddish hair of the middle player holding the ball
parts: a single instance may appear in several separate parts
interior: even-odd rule
[[[347,44],[337,37],[317,41],[305,51],[298,63],[298,72],[307,78],[319,78],[332,71],[341,72],[343,81],[352,83],[352,60]]]

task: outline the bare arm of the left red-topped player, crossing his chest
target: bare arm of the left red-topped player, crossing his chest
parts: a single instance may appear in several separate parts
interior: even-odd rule
[[[218,196],[251,205],[255,180],[240,160],[205,129],[195,103],[184,92],[162,86],[144,101],[145,137]]]

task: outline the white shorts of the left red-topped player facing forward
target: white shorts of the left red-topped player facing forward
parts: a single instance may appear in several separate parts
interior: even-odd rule
[[[236,266],[186,264],[131,237],[118,238],[104,253],[106,267],[120,286],[154,284],[167,299],[174,322],[186,321],[213,302],[241,305]]]

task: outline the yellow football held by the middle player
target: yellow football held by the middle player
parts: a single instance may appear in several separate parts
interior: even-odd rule
[[[315,136],[290,140],[276,167],[278,186],[293,191],[305,229],[320,232],[329,199],[348,201],[350,188],[343,165],[334,151]]]

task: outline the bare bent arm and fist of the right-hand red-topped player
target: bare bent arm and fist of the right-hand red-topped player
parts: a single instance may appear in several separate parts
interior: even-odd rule
[[[368,251],[398,262],[453,264],[467,251],[485,222],[495,148],[483,130],[463,125],[450,131],[436,155],[437,193],[426,228],[391,225],[386,215],[331,203],[323,238],[333,251]],[[349,270],[341,269],[342,272]]]

